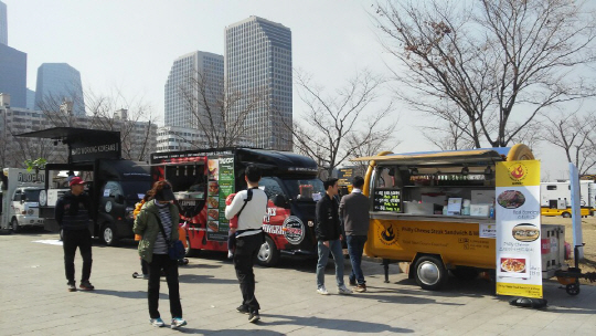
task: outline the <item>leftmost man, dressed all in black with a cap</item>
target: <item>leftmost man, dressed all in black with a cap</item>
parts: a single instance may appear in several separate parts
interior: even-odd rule
[[[68,292],[76,292],[74,258],[76,248],[83,258],[83,275],[79,287],[84,291],[93,291],[95,287],[89,283],[92,269],[92,235],[89,232],[89,196],[85,192],[82,178],[73,177],[68,185],[71,191],[66,192],[57,202],[55,218],[62,229],[62,244],[64,248],[64,269],[68,281]]]

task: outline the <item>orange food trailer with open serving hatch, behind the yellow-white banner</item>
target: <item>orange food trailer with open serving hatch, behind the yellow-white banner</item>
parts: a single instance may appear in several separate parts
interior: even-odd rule
[[[389,261],[408,262],[408,275],[425,290],[440,288],[449,272],[460,279],[473,279],[480,271],[494,276],[494,207],[512,209],[524,201],[513,190],[496,197],[496,165],[534,160],[528,146],[385,151],[355,160],[370,161],[363,190],[371,211],[366,255],[384,259],[385,271]],[[533,216],[540,223],[539,208]],[[552,277],[565,261],[565,228],[541,225],[540,232],[532,228],[536,225],[518,225],[512,234],[531,235],[521,241],[540,239],[542,279]]]

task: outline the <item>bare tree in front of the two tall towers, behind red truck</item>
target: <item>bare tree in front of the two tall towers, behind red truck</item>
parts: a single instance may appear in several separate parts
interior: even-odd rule
[[[231,85],[228,85],[231,86]],[[210,148],[237,146],[246,140],[246,117],[257,108],[267,106],[266,90],[240,92],[227,90],[221,80],[209,71],[194,70],[179,86],[179,94],[190,111],[189,127],[199,129],[203,141],[180,136],[194,147]]]

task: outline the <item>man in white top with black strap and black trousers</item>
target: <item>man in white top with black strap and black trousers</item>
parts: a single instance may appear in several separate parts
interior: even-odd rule
[[[242,305],[236,311],[248,314],[248,321],[256,323],[260,319],[260,306],[255,296],[255,273],[253,264],[264,241],[263,219],[267,212],[267,195],[258,189],[260,168],[249,165],[246,167],[244,179],[246,190],[242,190],[225,207],[225,218],[232,219],[238,212],[238,227],[236,234],[236,249],[234,251],[234,269],[242,292]]]

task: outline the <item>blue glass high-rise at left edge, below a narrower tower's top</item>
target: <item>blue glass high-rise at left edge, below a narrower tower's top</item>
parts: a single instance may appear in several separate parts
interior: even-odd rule
[[[13,107],[26,107],[26,54],[0,43],[0,93],[11,96]]]

